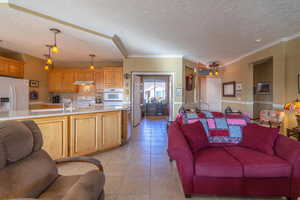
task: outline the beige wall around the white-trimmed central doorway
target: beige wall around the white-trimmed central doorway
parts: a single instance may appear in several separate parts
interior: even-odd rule
[[[132,72],[172,72],[173,86],[173,117],[175,117],[183,100],[182,95],[176,95],[176,89],[183,89],[183,59],[182,58],[127,58],[124,59],[124,73]],[[131,79],[125,79],[125,98],[130,100]]]

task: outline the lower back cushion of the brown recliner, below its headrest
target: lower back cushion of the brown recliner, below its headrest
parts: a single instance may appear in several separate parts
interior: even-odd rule
[[[0,199],[36,198],[56,178],[57,168],[41,150],[0,170]]]

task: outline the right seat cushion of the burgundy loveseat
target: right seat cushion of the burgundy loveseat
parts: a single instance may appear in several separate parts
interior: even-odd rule
[[[289,177],[291,175],[291,165],[277,156],[239,146],[224,148],[240,161],[244,176],[247,178]]]

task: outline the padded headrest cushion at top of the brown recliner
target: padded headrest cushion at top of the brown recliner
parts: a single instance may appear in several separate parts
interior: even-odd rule
[[[32,153],[33,136],[27,126],[21,122],[0,122],[0,140],[9,162],[18,161]]]

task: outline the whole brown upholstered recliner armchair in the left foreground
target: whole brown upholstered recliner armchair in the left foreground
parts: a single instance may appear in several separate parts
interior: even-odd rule
[[[0,122],[0,199],[103,200],[105,177],[98,160],[54,161],[42,150],[43,138],[33,121]],[[62,176],[56,164],[88,162],[97,169]]]

